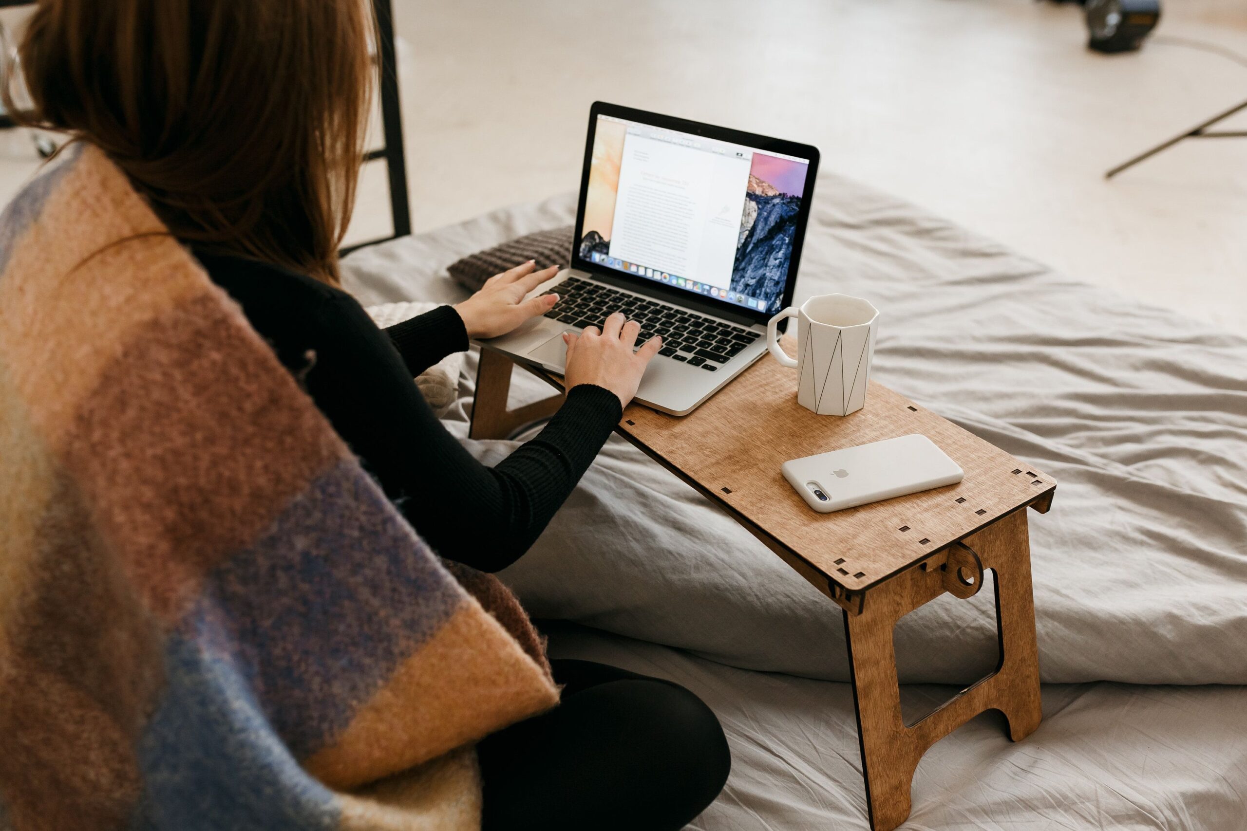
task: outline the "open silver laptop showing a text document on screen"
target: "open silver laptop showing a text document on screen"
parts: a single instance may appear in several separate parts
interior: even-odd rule
[[[767,350],[792,303],[818,150],[594,103],[570,265],[544,318],[481,346],[562,374],[562,334],[614,311],[661,335],[636,401],[687,415]]]

